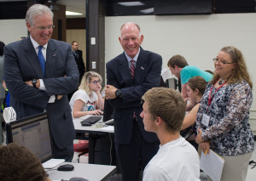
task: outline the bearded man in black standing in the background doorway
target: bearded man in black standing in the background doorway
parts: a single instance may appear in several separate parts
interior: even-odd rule
[[[71,43],[71,48],[73,50],[73,57],[76,60],[76,63],[79,68],[79,82],[81,82],[82,77],[84,76],[85,72],[85,66],[84,66],[84,60],[83,60],[83,52],[79,50],[79,42],[73,41]]]

